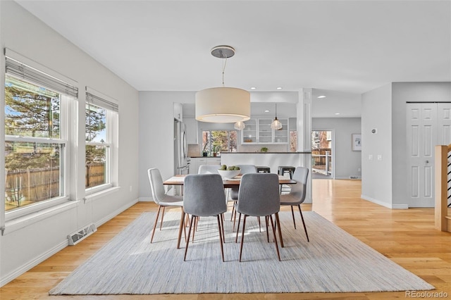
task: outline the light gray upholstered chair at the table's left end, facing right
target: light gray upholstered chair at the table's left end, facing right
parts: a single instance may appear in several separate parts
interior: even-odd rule
[[[183,210],[183,196],[171,196],[166,194],[163,186],[163,178],[161,178],[161,173],[157,168],[150,168],[149,170],[147,170],[147,175],[149,175],[152,198],[154,199],[154,202],[158,204],[158,213],[156,213],[154,229],[152,230],[152,237],[150,238],[150,242],[152,243],[154,240],[156,223],[158,223],[161,208],[163,208],[163,211],[161,212],[160,230],[161,225],[163,225],[164,208],[166,206],[175,206],[180,207]],[[180,248],[180,238],[182,235],[181,229],[183,227],[184,216],[185,215],[182,213],[182,218],[180,218],[180,230],[178,233],[177,249]]]

